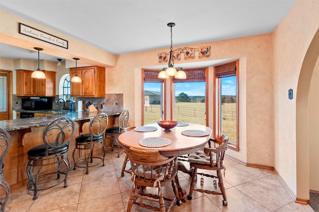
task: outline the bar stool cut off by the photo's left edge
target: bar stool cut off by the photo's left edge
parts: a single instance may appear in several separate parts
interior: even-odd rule
[[[9,184],[3,179],[3,158],[4,155],[8,152],[9,147],[10,147],[10,143],[11,143],[11,137],[9,135],[9,133],[7,133],[7,131],[5,131],[4,129],[0,128],[0,152],[2,152],[2,154],[0,155],[0,165],[1,165],[1,169],[0,169],[0,186],[5,190],[5,198],[3,202],[0,202],[0,206],[1,212],[5,211],[5,205],[6,202],[9,198],[9,194],[10,194],[10,186]]]

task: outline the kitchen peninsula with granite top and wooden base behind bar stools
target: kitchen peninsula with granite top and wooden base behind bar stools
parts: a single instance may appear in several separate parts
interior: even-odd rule
[[[69,152],[75,149],[75,138],[83,133],[89,133],[90,120],[99,112],[75,111],[67,114],[57,114],[53,116],[30,117],[14,120],[0,121],[0,127],[6,130],[11,137],[11,145],[3,159],[3,175],[4,179],[10,185],[10,190],[15,191],[27,185],[27,174],[25,167],[28,162],[27,151],[34,146],[43,144],[42,134],[45,127],[54,119],[62,116],[70,117],[75,122],[75,132],[71,139]],[[105,112],[109,117],[108,127],[112,127],[117,123],[120,112]],[[111,140],[105,140],[106,147],[111,146]],[[93,154],[103,151],[103,148],[97,148]],[[84,158],[84,151],[76,151],[76,159]],[[69,159],[73,164],[72,156]],[[72,165],[73,166],[73,165]],[[43,167],[41,173],[49,173],[56,167]],[[3,195],[0,191],[0,196]],[[30,196],[31,198],[31,196]]]

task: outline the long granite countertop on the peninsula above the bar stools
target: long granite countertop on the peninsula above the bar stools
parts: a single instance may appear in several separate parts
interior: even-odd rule
[[[0,128],[6,131],[14,131],[14,130],[32,128],[32,127],[46,126],[55,118],[62,117],[62,116],[69,117],[73,119],[74,121],[80,121],[80,120],[90,119],[98,113],[100,113],[100,111],[99,112],[69,111],[67,114],[57,114],[53,116],[2,120],[0,121]],[[105,113],[108,116],[121,114],[121,112],[105,112]]]

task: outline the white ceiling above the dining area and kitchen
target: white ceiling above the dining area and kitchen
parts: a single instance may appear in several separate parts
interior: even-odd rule
[[[272,32],[296,1],[0,0],[0,9],[120,55],[169,49],[168,22],[176,23],[173,49]],[[0,49],[3,58],[38,58],[37,51],[3,43]],[[57,58],[40,52],[40,59],[57,62]]]

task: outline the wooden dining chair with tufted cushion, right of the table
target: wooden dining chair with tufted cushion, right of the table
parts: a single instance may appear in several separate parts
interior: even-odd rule
[[[211,142],[213,142],[214,147],[211,147]],[[223,206],[227,206],[227,198],[226,198],[226,192],[225,192],[221,170],[223,169],[225,170],[224,155],[225,155],[225,151],[227,150],[228,136],[223,134],[219,138],[209,139],[208,144],[209,144],[209,147],[205,147],[203,152],[198,151],[188,156],[187,161],[189,162],[190,167],[193,167],[193,173],[192,173],[192,179],[191,179],[190,189],[189,189],[189,194],[187,195],[187,199],[188,200],[192,199],[193,191],[213,194],[213,195],[222,195]],[[217,176],[206,174],[206,173],[197,173],[197,169],[216,171]],[[201,187],[204,186],[203,176],[213,178],[214,191],[204,190],[202,188],[194,189],[195,181],[197,180],[197,175],[200,175],[202,177],[200,182]],[[218,183],[216,181],[216,178],[218,179]]]

